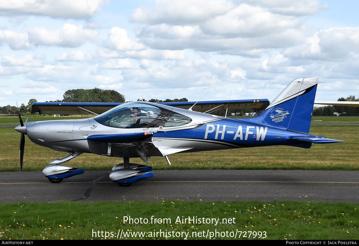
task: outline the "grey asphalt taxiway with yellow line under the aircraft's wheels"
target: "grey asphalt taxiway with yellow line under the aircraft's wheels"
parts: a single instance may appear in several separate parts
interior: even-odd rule
[[[41,171],[0,172],[0,203],[56,201],[322,201],[359,203],[359,171],[153,170],[121,187],[110,171],[53,184]]]

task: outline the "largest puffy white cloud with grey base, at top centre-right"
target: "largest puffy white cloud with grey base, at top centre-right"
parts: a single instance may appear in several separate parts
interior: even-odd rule
[[[199,1],[196,6],[206,9],[206,3]],[[164,8],[172,9],[166,4],[154,7],[151,13],[141,15],[147,23],[138,27],[137,37],[151,49],[194,49],[223,55],[259,57],[268,49],[299,45],[303,41],[298,37],[306,36],[309,32],[301,18],[272,13],[260,5],[229,5],[232,8],[214,11],[215,14],[210,16],[204,15],[206,18],[198,22],[195,19],[191,25],[185,22],[183,25],[173,24],[172,19],[165,15],[161,15],[161,22],[151,22],[146,18],[160,15]],[[185,12],[185,17],[193,14],[191,11]],[[139,18],[134,20],[140,21]]]

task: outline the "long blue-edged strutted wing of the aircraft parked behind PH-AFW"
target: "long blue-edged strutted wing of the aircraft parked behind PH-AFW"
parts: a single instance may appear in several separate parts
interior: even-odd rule
[[[32,113],[42,115],[83,115],[87,113],[101,114],[122,103],[99,103],[99,102],[34,102]],[[162,102],[159,104],[173,106],[177,108],[189,109],[193,111],[211,112],[218,109],[240,109],[258,108],[264,110],[269,105],[268,99],[248,99],[248,100],[223,100],[223,101],[202,101],[202,102]]]

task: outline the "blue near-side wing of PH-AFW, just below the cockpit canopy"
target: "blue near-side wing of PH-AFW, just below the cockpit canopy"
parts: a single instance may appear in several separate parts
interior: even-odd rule
[[[143,141],[153,135],[149,133],[123,133],[123,134],[97,134],[87,137],[87,140],[102,142],[102,143],[133,143],[136,141]]]

